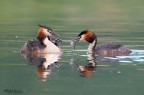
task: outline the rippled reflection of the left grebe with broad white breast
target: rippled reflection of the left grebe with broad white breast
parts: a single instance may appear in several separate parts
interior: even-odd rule
[[[41,81],[46,81],[56,70],[61,66],[58,63],[61,54],[23,54],[23,56],[30,62],[30,64],[37,65],[38,78]]]

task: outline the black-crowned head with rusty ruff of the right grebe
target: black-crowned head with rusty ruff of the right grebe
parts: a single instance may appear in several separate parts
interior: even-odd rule
[[[78,37],[76,39],[74,39],[75,42],[78,41],[87,41],[89,43],[92,43],[94,40],[96,40],[96,35],[94,34],[94,32],[90,31],[90,30],[84,30],[82,31]]]

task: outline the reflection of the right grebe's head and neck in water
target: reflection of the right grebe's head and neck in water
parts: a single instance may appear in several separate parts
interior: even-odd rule
[[[71,65],[75,65],[76,68],[78,68],[78,70],[81,72],[81,76],[82,77],[91,77],[92,76],[92,73],[94,72],[95,68],[96,68],[96,57],[94,54],[88,54],[87,55],[87,60],[88,60],[88,64],[86,65],[79,65],[79,64],[76,64],[75,60],[74,59],[71,59],[70,61],[70,64]]]

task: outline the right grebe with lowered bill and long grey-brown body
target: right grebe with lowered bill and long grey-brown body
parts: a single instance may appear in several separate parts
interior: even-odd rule
[[[84,40],[90,43],[88,47],[88,53],[94,52],[95,54],[102,56],[123,56],[129,55],[132,52],[127,47],[113,42],[96,45],[97,37],[94,32],[88,29],[82,31],[72,42],[75,43],[80,40]]]

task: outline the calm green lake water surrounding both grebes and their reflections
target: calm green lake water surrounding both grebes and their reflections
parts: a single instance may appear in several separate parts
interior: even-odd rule
[[[143,95],[143,4],[143,0],[0,0],[0,94]],[[36,37],[38,24],[51,27],[63,39],[61,66],[47,81],[40,81],[37,66],[19,53]],[[97,58],[92,77],[81,77],[73,65],[88,64],[88,44],[80,42],[73,51],[69,42],[84,29],[94,31],[98,43],[124,44],[133,54]]]

